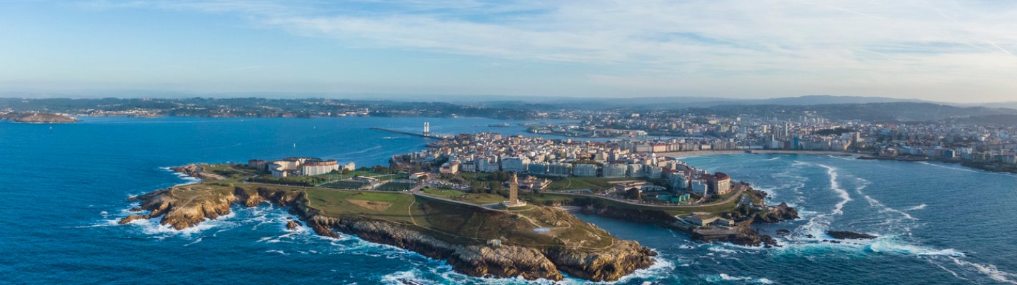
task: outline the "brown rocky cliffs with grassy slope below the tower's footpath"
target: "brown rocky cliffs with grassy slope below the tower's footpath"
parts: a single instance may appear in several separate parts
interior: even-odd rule
[[[202,175],[199,166],[176,169]],[[470,276],[528,280],[557,281],[564,272],[613,281],[650,267],[656,255],[637,241],[615,238],[547,207],[507,212],[400,193],[224,185],[202,183],[132,197],[149,213],[128,216],[121,223],[162,217],[162,224],[182,229],[228,214],[234,204],[255,207],[268,202],[288,207],[317,234],[356,234],[444,260]],[[541,233],[535,228],[547,230]]]

